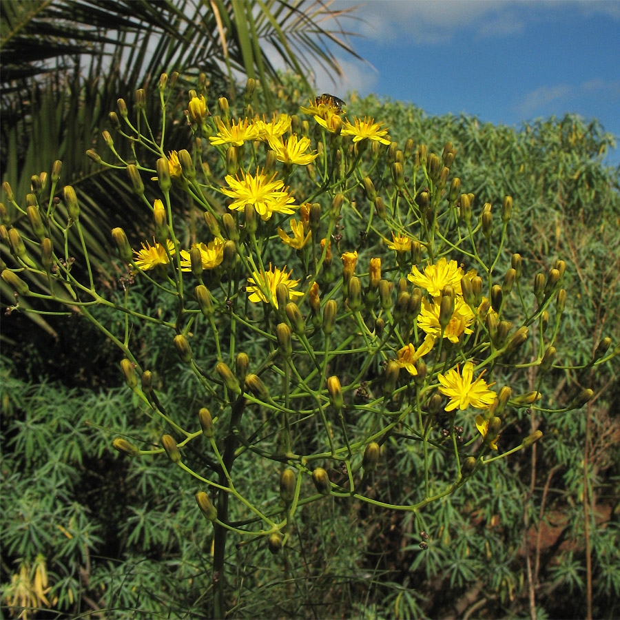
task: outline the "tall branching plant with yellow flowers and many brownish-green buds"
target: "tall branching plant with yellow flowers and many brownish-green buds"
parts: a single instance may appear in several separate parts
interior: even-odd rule
[[[214,616],[223,617],[229,537],[238,545],[264,540],[278,553],[296,515],[314,502],[355,499],[417,516],[541,438],[534,429],[516,443],[502,440],[519,410],[578,409],[592,391],[554,406],[544,377],[570,367],[555,361],[566,264],[557,260],[525,281],[521,256],[506,250],[512,199],[476,207],[451,173],[451,143],[441,155],[411,139],[401,148],[382,123],[349,118],[329,95],[299,115],[260,118],[249,105],[250,80],[239,118],[226,99],[211,114],[203,94],[190,91],[192,139],[169,151],[167,82],[164,74],[158,127],[144,114],[143,90],[136,118],[123,100],[121,118],[110,114],[118,135],[146,155],[134,148],[135,161],[123,161],[108,132],[110,161],[88,152],[127,170],[151,230],[134,247],[123,229],[111,231],[127,272],[122,300],[96,287],[79,202],[72,187],[61,191],[59,161],[49,177],[33,177],[25,205],[5,184],[18,216],[2,205],[0,232],[13,263],[1,265],[1,277],[14,288],[14,310],[37,311],[37,300],[64,305],[116,344],[127,386],[160,432],[153,442],[136,439],[136,429],[112,445],[133,458],[167,458],[187,473],[196,510],[213,524]],[[209,158],[225,169],[221,178]],[[153,204],[144,183],[161,190]],[[173,186],[203,216],[189,247]],[[81,243],[82,265],[73,265],[70,234]],[[52,241],[59,236],[63,245]],[[145,289],[171,300],[162,306],[172,311],[143,313],[134,295]],[[96,318],[95,306],[123,318],[118,331]],[[132,337],[140,322],[156,326],[193,375],[203,406],[189,419],[159,397],[153,373],[162,369]],[[211,353],[196,356],[193,341],[209,342]],[[619,353],[608,352],[610,344],[601,340],[592,366]],[[378,466],[405,450],[423,455],[422,484],[388,499]],[[278,473],[279,502],[265,503],[236,476],[241,459]]]

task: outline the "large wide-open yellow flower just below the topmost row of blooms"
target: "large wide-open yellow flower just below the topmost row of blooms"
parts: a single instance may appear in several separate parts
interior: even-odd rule
[[[256,176],[249,172],[243,173],[243,178],[234,178],[229,174],[226,182],[229,189],[222,192],[235,200],[228,205],[232,211],[242,211],[245,205],[254,205],[256,213],[262,220],[269,220],[273,213],[291,214],[295,212],[295,199],[284,186],[282,180],[274,180],[276,174],[267,178],[266,174],[256,170]]]

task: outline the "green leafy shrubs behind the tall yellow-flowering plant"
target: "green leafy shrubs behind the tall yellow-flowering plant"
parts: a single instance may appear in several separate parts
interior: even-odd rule
[[[48,160],[28,167],[34,160],[24,152],[5,156],[3,161],[16,159],[12,165],[17,167],[14,172],[3,169],[3,180],[10,178],[16,194],[23,196],[30,180],[14,181],[19,172],[49,169],[61,157],[78,171],[75,178],[63,176],[66,183],[80,187],[74,179],[86,183],[95,178],[103,204],[128,207],[132,198],[125,178],[104,182],[81,154],[92,147],[94,128],[103,126],[101,119],[114,108],[118,93],[143,82],[130,74],[126,81],[118,76],[110,87],[102,81],[93,89],[96,99],[89,99],[89,82],[75,80],[70,92],[76,95],[63,100],[62,112],[53,105],[60,105],[58,94],[65,92],[67,82],[56,79],[40,87],[56,110],[40,112],[41,118],[54,118],[57,125],[36,125],[32,110],[23,115],[23,135],[48,136],[43,154],[37,151]],[[291,76],[280,81],[273,105],[280,112],[297,112],[303,83]],[[103,85],[105,96],[99,90]],[[179,95],[179,145],[189,136],[178,122],[181,101]],[[533,278],[555,258],[567,260],[568,300],[579,302],[579,311],[567,304],[562,327],[572,360],[590,360],[592,344],[604,335],[617,344],[619,170],[602,163],[612,136],[596,121],[566,116],[513,130],[468,116],[427,116],[411,105],[373,97],[353,95],[348,103],[351,114],[383,120],[400,145],[411,137],[440,152],[451,140],[458,152],[453,172],[462,187],[476,194],[478,207],[513,196],[510,250],[524,256],[524,278]],[[54,127],[74,131],[67,118],[79,119],[76,125],[85,127],[83,141],[70,133],[61,142],[54,138]],[[3,123],[3,152],[19,154],[17,145],[25,143],[17,134],[6,137],[6,127]],[[66,145],[76,145],[75,152]],[[14,173],[17,177],[10,176]],[[85,196],[93,195],[92,185],[83,187]],[[93,200],[93,209],[94,203],[101,204]],[[125,207],[114,209],[113,217],[121,217]],[[345,230],[344,235],[359,243],[358,231]],[[103,229],[102,256],[108,242]],[[118,287],[118,274],[101,273],[100,278],[112,289]],[[144,304],[147,308],[148,298]],[[56,617],[55,612],[57,617],[205,617],[211,528],[196,510],[192,491],[183,489],[178,468],[165,459],[126,459],[111,450],[115,435],[141,426],[158,438],[158,429],[149,428],[139,402],[123,384],[116,351],[102,345],[79,318],[49,323],[55,338],[34,331],[23,316],[12,314],[2,322],[4,610],[22,592],[21,601],[50,610],[45,617]],[[144,355],[158,360],[168,373],[182,375],[168,344],[154,340],[148,329],[138,338]],[[81,345],[77,352],[76,341]],[[195,351],[196,356],[206,357],[209,344],[201,346],[204,350]],[[484,468],[457,495],[423,513],[425,551],[411,515],[333,500],[329,511],[322,502],[302,513],[298,539],[284,557],[272,557],[258,543],[231,546],[230,615],[570,618],[585,617],[591,597],[593,617],[617,617],[620,462],[615,448],[620,424],[614,403],[620,390],[617,363],[606,370],[594,385],[588,375],[557,371],[553,379],[559,403],[570,399],[571,390],[588,386],[595,389],[595,398],[586,409],[568,415],[533,420],[523,414],[503,440],[509,441],[511,432],[522,437],[537,426],[544,439],[530,452]],[[179,404],[187,411],[197,409],[191,383],[175,382],[173,390],[166,375],[156,380],[178,409]],[[419,471],[415,453],[397,461],[386,451],[376,477],[389,484],[375,485],[377,497],[405,496],[417,484]],[[262,502],[278,502],[277,472],[248,466],[242,474],[261,489]]]

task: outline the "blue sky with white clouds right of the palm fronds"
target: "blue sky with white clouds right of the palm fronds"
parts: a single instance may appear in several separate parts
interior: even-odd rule
[[[347,76],[318,92],[356,90],[428,114],[464,112],[519,127],[539,116],[597,118],[620,142],[620,1],[336,0],[355,51]],[[620,161],[620,145],[607,158]]]

